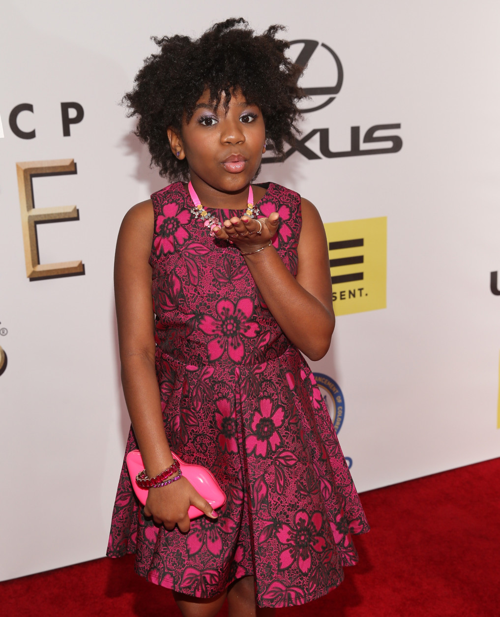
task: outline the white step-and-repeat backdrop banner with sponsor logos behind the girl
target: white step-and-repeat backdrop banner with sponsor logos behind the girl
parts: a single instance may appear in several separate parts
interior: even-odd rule
[[[115,240],[166,184],[119,102],[150,36],[232,15],[2,4],[2,579],[104,555],[129,429]],[[244,17],[287,25],[306,67],[301,138],[259,180],[324,221],[338,318],[311,366],[359,491],[498,457],[498,2],[258,0]]]

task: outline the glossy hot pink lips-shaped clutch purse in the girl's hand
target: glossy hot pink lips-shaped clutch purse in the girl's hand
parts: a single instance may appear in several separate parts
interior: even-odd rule
[[[189,482],[191,482],[195,490],[198,491],[199,494],[208,501],[208,503],[210,503],[214,510],[220,508],[221,505],[226,503],[226,495],[224,494],[224,491],[206,467],[203,467],[202,465],[189,465],[188,463],[184,463],[184,461],[182,461],[181,458],[173,452],[172,456],[179,461],[184,478],[187,478]],[[136,482],[136,476],[144,469],[141,452],[139,452],[139,450],[131,450],[131,452],[127,455],[126,462],[128,473],[130,474],[132,481],[132,486],[134,487],[134,492],[137,495],[137,499],[139,499],[142,505],[144,505],[147,499],[148,489],[141,489],[141,487],[137,486]],[[198,516],[203,516],[204,514],[204,512],[198,508],[195,508],[194,505],[190,506],[187,511],[187,516],[191,519],[197,518]]]

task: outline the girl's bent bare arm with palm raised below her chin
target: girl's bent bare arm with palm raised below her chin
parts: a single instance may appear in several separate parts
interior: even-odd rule
[[[247,217],[231,218],[232,227],[224,222],[223,229],[216,235],[232,238],[243,252],[255,251],[266,246],[274,236],[279,215],[273,212],[267,219],[260,220],[264,223],[261,236],[242,239],[242,236],[232,235],[233,230],[258,229],[258,223]],[[245,255],[245,261],[268,309],[286,336],[308,358],[319,360],[330,347],[335,315],[326,235],[318,210],[306,199],[302,200],[302,230],[297,250],[297,278],[293,278],[273,246]]]

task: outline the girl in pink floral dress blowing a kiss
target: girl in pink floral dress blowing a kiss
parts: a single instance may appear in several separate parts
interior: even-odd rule
[[[226,597],[229,615],[264,616],[327,594],[357,561],[350,533],[368,530],[300,354],[323,357],[335,325],[321,219],[290,189],[251,184],[298,117],[300,68],[279,29],[229,19],[196,41],[155,39],[125,96],[178,180],[129,210],[118,237],[126,452],[141,450],[153,484],[177,477],[171,451],[206,466],[227,500],[213,511],[180,477],[142,508],[124,465],[108,555],[135,552],[186,617]],[[205,516],[190,521],[190,505]]]

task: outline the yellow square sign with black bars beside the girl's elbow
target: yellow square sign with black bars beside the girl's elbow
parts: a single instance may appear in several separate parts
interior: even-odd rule
[[[325,223],[335,315],[385,309],[387,217]]]

